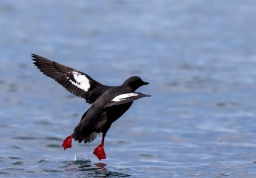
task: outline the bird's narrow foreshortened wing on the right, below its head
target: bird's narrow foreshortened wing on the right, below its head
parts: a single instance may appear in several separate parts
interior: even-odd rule
[[[125,103],[129,103],[131,101],[137,100],[139,98],[149,97],[149,96],[151,96],[151,95],[141,94],[140,92],[132,92],[131,94],[118,95],[117,97],[108,101],[108,103],[105,105],[105,107],[110,107],[110,106],[114,106],[114,105],[122,105]]]

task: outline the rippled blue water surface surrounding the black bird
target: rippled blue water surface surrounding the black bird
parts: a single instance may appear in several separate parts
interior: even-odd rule
[[[0,2],[0,177],[254,177],[256,2]],[[108,131],[107,159],[63,140],[89,108],[30,53],[153,97]]]

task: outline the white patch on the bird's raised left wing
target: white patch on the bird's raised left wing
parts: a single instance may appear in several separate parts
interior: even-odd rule
[[[74,76],[74,79],[76,80],[76,82],[71,79],[69,79],[69,81],[72,84],[74,84],[75,86],[77,86],[78,88],[81,88],[84,91],[88,91],[91,86],[90,86],[89,80],[86,78],[86,76],[82,75],[78,72],[75,72],[75,71],[73,71],[72,73],[73,73],[73,76]],[[68,79],[68,77],[67,77],[67,79]]]

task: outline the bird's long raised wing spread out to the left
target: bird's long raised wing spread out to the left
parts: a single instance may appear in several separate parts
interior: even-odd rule
[[[66,90],[92,104],[109,87],[93,80],[89,75],[79,72],[66,65],[48,60],[42,56],[31,54],[36,61],[34,64],[47,77],[53,78],[60,83]]]

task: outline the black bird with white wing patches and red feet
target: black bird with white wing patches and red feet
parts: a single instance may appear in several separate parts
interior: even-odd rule
[[[139,87],[149,84],[140,77],[133,76],[125,80],[121,86],[105,86],[89,75],[71,67],[51,61],[45,57],[31,54],[35,66],[47,77],[60,83],[66,90],[77,97],[84,98],[86,103],[92,104],[83,114],[74,132],[62,144],[65,149],[71,148],[74,139],[81,143],[90,143],[102,133],[101,143],[93,154],[106,159],[104,139],[111,124],[121,117],[132,105],[134,100],[150,95],[135,92]]]

